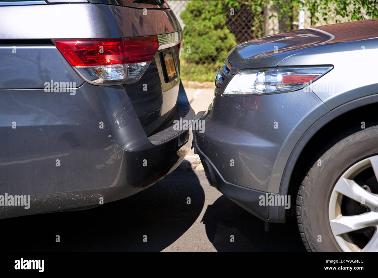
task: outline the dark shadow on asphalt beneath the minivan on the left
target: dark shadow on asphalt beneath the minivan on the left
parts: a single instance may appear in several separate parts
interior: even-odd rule
[[[195,199],[190,209],[187,197]],[[6,239],[2,248],[17,252],[158,252],[192,226],[203,204],[204,191],[195,173],[176,170],[138,194],[89,210],[3,219],[2,227],[8,228],[2,228]]]

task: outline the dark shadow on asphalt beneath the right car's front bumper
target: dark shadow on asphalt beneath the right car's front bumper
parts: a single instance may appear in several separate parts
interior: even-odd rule
[[[202,221],[218,252],[305,251],[294,218],[285,224],[271,223],[270,231],[266,232],[262,220],[224,195],[207,207]]]

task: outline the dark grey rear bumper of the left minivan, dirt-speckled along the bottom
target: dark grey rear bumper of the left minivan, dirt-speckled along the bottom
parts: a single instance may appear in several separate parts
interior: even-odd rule
[[[189,121],[194,112],[181,82],[177,86],[177,117]],[[131,196],[174,171],[192,146],[192,130],[172,125],[147,137],[132,106],[125,105],[130,99],[123,86],[84,83],[74,96],[43,89],[2,93],[0,195],[30,195],[31,203],[29,209],[2,206],[0,218]],[[114,122],[118,113],[125,120],[121,128]]]

